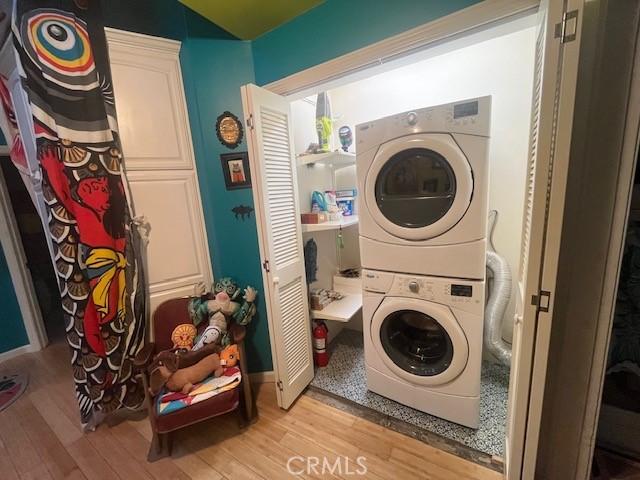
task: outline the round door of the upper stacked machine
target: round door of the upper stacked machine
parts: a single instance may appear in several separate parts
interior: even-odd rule
[[[410,135],[381,145],[365,183],[376,223],[405,240],[428,240],[451,229],[472,194],[471,166],[446,134]]]

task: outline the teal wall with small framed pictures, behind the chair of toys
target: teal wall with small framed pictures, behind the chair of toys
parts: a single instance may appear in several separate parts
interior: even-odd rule
[[[242,118],[240,87],[254,82],[251,44],[238,40],[187,38],[180,63],[184,80],[193,147],[198,167],[209,251],[216,278],[231,276],[243,286],[263,293],[255,217],[236,220],[236,205],[253,207],[251,189],[227,190],[221,153],[247,150],[246,136],[236,149],[223,146],[216,137],[218,115],[229,110]],[[258,314],[247,335],[249,371],[272,369],[269,330],[264,298],[258,297]]]

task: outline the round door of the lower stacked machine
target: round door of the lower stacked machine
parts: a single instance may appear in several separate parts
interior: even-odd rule
[[[385,298],[371,320],[371,340],[387,368],[418,385],[452,381],[469,358],[451,310],[426,300]]]

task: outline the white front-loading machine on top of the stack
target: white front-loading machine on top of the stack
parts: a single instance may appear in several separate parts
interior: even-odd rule
[[[484,279],[491,97],[356,127],[362,266]]]

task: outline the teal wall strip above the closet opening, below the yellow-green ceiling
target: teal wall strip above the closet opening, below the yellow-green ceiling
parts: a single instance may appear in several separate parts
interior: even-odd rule
[[[480,0],[326,0],[252,42],[265,85]]]

